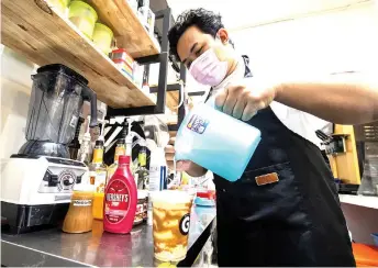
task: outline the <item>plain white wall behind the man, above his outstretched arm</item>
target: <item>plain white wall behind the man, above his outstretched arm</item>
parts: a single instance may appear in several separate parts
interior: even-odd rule
[[[231,33],[259,74],[375,69],[378,66],[378,11],[373,2],[344,11],[279,22]]]

